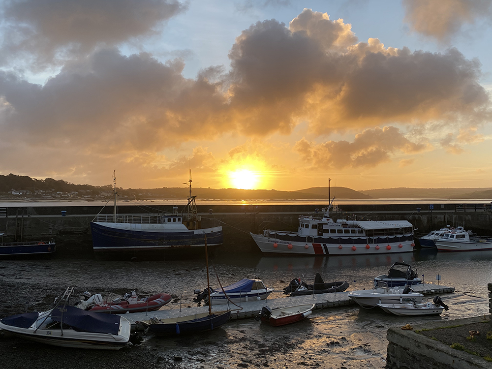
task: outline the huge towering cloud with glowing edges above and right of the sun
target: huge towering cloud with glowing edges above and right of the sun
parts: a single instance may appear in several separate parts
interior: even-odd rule
[[[258,22],[229,58],[231,107],[245,134],[289,133],[302,121],[318,134],[389,123],[490,117],[480,63],[445,53],[356,40],[349,25],[305,9],[286,28]]]

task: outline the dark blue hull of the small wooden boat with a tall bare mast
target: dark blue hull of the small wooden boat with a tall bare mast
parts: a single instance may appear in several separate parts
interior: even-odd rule
[[[178,318],[162,319],[158,322],[140,322],[149,327],[154,335],[159,337],[176,337],[212,331],[227,323],[231,317],[231,311],[208,312],[194,315],[186,315]]]

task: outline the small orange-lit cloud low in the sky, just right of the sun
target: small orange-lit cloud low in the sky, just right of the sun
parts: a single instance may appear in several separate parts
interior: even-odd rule
[[[391,126],[367,129],[357,134],[354,142],[327,141],[315,144],[303,137],[294,146],[294,150],[311,169],[375,167],[390,161],[392,153],[414,154],[426,148],[425,144],[409,141],[398,128]]]

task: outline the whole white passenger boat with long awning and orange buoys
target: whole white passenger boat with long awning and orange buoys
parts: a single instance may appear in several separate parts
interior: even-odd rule
[[[333,202],[333,200],[332,200]],[[321,213],[299,216],[297,232],[265,229],[251,234],[262,252],[301,255],[367,255],[413,251],[413,226],[406,220],[361,221]]]

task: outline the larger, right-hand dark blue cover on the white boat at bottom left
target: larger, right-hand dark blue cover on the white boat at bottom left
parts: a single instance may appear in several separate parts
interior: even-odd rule
[[[73,306],[55,307],[50,315],[56,322],[68,324],[80,332],[108,333],[118,335],[121,317],[113,314],[101,314],[85,311]]]

